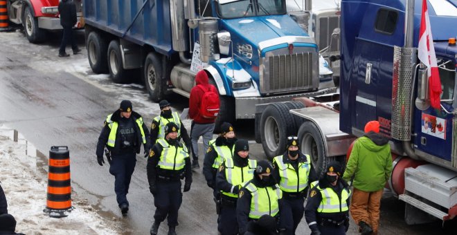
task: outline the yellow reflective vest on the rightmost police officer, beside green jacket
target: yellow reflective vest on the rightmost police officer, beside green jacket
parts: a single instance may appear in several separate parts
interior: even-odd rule
[[[343,189],[341,191],[341,209],[338,194],[333,191],[331,188],[321,189],[317,185],[316,189],[321,191],[322,200],[321,205],[317,208],[319,213],[335,213],[335,212],[347,212],[349,210],[346,200],[348,200],[350,195],[350,190]]]

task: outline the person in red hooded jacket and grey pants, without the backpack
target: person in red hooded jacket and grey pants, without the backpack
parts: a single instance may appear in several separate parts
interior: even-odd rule
[[[192,169],[200,168],[198,163],[198,140],[203,137],[204,151],[208,149],[208,144],[213,138],[215,118],[204,118],[199,112],[201,97],[206,91],[213,91],[217,94],[215,86],[209,84],[208,75],[205,71],[199,71],[195,75],[196,86],[190,90],[189,97],[189,118],[192,119],[190,125],[190,140],[192,140]],[[202,89],[204,88],[204,89]]]

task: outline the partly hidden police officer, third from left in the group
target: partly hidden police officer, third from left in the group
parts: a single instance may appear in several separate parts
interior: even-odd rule
[[[203,162],[203,174],[208,187],[214,189],[215,196],[217,194],[217,190],[215,190],[217,169],[226,158],[232,158],[233,144],[236,140],[232,124],[224,122],[221,125],[219,136],[209,142]]]

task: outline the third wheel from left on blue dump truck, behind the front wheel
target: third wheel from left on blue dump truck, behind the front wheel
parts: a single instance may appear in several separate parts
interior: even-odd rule
[[[165,82],[162,79],[160,59],[155,53],[147,54],[144,69],[146,90],[152,101],[159,102],[163,99]]]

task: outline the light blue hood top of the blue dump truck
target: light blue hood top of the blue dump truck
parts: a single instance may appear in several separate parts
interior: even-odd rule
[[[284,36],[309,37],[289,15],[223,19],[222,28],[231,32],[232,36],[241,37],[244,43],[249,43],[256,49],[261,41],[269,39]]]

